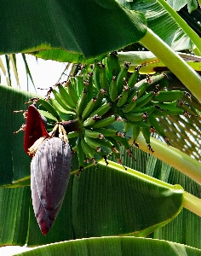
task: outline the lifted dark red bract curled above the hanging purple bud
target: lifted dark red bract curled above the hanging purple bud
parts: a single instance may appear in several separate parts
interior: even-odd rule
[[[28,154],[28,148],[32,147],[33,143],[35,143],[38,138],[49,136],[45,128],[45,121],[46,119],[38,112],[34,105],[28,107],[24,137],[24,149],[26,154]],[[29,155],[33,156],[32,154]]]

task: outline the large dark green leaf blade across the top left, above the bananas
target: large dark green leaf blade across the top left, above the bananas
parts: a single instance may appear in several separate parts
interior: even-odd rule
[[[0,53],[65,49],[86,58],[139,41],[146,20],[114,0],[1,2]],[[110,26],[108,26],[110,25]]]

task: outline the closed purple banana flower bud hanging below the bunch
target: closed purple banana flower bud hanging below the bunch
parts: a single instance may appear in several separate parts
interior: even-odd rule
[[[71,173],[72,152],[59,137],[47,138],[31,163],[32,204],[37,223],[46,235],[55,222]]]

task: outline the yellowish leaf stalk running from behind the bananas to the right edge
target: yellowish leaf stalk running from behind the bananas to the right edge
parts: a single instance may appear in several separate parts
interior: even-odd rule
[[[133,140],[129,140],[129,144],[132,144]],[[151,145],[153,153],[147,148],[146,141],[142,134],[139,135],[135,143],[139,143],[140,148],[153,156],[156,156],[159,160],[163,160],[170,166],[191,177],[197,183],[201,183],[201,164],[192,159],[187,154],[182,153],[180,150],[167,146],[165,143],[159,142],[157,139],[151,137]]]

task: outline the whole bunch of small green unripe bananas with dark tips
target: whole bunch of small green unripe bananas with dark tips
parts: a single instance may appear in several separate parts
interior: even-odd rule
[[[169,143],[158,117],[186,114],[178,100],[187,92],[167,90],[168,79],[163,73],[146,76],[138,81],[139,70],[129,73],[129,62],[123,68],[117,52],[92,66],[78,66],[77,73],[49,90],[46,99],[37,99],[45,108],[40,113],[48,120],[48,129],[55,122],[64,125],[68,137],[77,137],[73,152],[77,152],[80,172],[89,162],[115,154],[121,163],[119,145],[132,156],[126,133],[132,129],[135,140],[142,132],[150,150],[150,136],[157,131]],[[54,97],[51,96],[54,95]],[[123,122],[123,131],[113,124]]]

